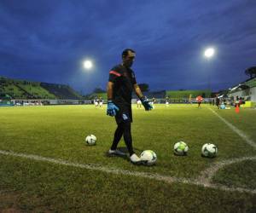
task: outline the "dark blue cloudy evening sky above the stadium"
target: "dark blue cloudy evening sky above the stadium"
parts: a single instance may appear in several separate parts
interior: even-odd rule
[[[255,0],[1,0],[0,76],[89,93],[106,88],[131,48],[137,82],[151,90],[207,89],[209,78],[213,90],[226,89],[255,66],[255,14]]]

